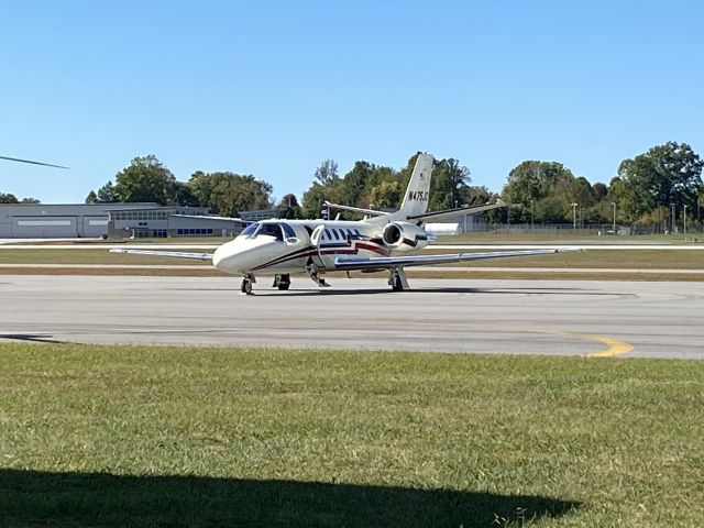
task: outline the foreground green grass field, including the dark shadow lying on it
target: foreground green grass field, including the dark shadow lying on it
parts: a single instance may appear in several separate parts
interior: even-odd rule
[[[704,363],[0,345],[0,526],[704,522]]]

